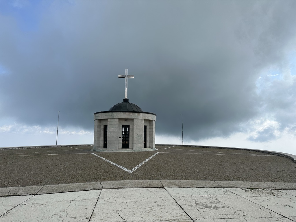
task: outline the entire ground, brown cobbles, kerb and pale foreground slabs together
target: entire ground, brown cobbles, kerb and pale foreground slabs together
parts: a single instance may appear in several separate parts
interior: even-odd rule
[[[296,163],[286,157],[91,148],[0,150],[0,222],[296,221]]]

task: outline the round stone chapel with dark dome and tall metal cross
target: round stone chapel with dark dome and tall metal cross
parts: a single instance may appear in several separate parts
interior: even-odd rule
[[[108,111],[94,113],[94,151],[131,152],[151,151],[155,149],[156,115],[144,112],[127,98],[127,80],[134,78],[128,75],[118,75],[125,78],[125,99],[115,104]]]

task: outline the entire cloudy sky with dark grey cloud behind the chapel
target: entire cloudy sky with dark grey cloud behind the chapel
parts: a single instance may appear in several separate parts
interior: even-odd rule
[[[0,0],[0,147],[93,144],[124,98],[156,143],[296,155],[296,1]],[[57,121],[59,130],[57,138]]]

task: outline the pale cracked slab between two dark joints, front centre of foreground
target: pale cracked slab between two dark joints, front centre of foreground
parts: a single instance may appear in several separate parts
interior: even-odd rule
[[[109,189],[98,200],[90,221],[190,220],[164,189]]]

